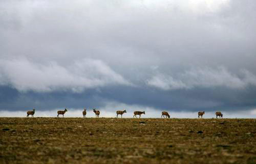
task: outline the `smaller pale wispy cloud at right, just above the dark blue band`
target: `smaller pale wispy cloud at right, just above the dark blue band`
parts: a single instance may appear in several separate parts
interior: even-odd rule
[[[178,75],[172,76],[157,74],[147,81],[150,86],[163,90],[191,89],[195,87],[228,87],[231,89],[243,89],[248,85],[256,85],[256,76],[243,69],[240,75],[232,74],[223,66],[218,68],[192,68]]]

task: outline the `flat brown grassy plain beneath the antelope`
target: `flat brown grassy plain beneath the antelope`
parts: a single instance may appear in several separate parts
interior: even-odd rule
[[[0,163],[256,163],[256,119],[0,118]]]

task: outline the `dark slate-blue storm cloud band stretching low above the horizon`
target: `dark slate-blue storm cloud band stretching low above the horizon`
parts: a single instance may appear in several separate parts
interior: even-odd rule
[[[3,89],[2,89],[3,90]],[[4,87],[5,92],[13,89]],[[189,90],[159,91],[157,89],[131,88],[123,86],[104,87],[98,91],[88,89],[84,92],[73,93],[67,91],[54,91],[51,93],[27,92],[20,94],[17,91],[9,99],[0,102],[3,109],[26,110],[37,107],[38,110],[55,108],[89,109],[103,108],[114,102],[127,105],[140,105],[152,107],[157,110],[170,111],[216,111],[255,108],[256,87],[250,86],[244,90],[221,88],[195,88]],[[109,108],[113,111],[115,109]]]

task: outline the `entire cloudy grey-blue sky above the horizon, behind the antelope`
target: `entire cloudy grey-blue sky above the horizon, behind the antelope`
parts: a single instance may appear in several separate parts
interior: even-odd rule
[[[0,1],[0,116],[256,118],[256,1]]]

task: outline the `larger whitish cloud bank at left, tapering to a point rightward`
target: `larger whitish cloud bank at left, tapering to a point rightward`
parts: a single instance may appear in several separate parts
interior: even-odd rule
[[[0,60],[2,85],[18,91],[49,92],[71,90],[81,92],[87,88],[105,85],[131,85],[100,60],[82,59],[71,65],[56,62],[36,64],[27,59]]]

